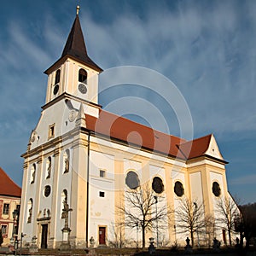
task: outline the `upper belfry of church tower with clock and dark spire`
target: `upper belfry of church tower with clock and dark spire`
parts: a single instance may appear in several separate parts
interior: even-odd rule
[[[87,54],[79,20],[79,6],[61,58],[44,73],[48,75],[45,103],[57,101],[63,95],[88,104],[98,104],[98,75],[102,68]]]

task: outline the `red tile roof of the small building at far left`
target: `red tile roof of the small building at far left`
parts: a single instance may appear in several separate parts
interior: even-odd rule
[[[0,195],[21,197],[20,187],[0,167]]]

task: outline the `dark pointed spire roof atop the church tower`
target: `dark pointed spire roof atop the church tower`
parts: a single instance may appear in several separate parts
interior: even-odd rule
[[[100,72],[102,71],[102,68],[96,65],[96,63],[92,61],[90,57],[87,55],[87,50],[84,43],[84,35],[80,25],[79,15],[76,15],[76,18],[73,21],[72,29],[69,32],[67,42],[63,49],[61,58],[58,61],[60,61],[62,58],[66,56],[70,56],[78,61],[82,61],[84,64],[88,65],[88,67],[91,67],[96,71],[100,71]],[[55,64],[58,61],[56,61]],[[53,64],[51,67],[55,66],[55,64]],[[48,73],[51,67],[49,67],[44,73]]]

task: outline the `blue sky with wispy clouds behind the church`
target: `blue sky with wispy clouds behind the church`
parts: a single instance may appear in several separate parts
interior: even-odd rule
[[[90,57],[104,70],[147,67],[172,80],[186,100],[194,136],[213,133],[230,193],[256,201],[256,2],[153,0],[3,0],[0,9],[0,166],[21,185],[20,154],[44,105],[46,75],[61,55],[76,5]],[[100,84],[101,86],[101,84]],[[156,84],[157,86],[157,84]],[[143,97],[166,117],[165,102],[146,92],[103,92],[103,108],[119,97]],[[138,113],[142,105],[136,106]],[[146,122],[136,113],[133,119]],[[114,111],[114,110],[113,110]],[[145,110],[146,111],[146,110]],[[154,119],[154,117],[153,117]]]

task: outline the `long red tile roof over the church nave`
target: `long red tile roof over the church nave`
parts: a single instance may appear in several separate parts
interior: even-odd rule
[[[96,134],[183,160],[205,154],[212,136],[207,135],[187,142],[183,138],[155,131],[148,126],[138,124],[102,109],[100,110],[99,118],[85,114],[85,119],[87,129],[94,131]]]

